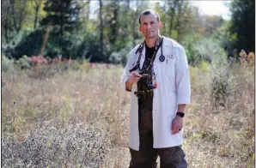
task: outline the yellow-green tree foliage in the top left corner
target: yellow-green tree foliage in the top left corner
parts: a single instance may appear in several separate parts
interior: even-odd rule
[[[36,10],[34,2],[42,3],[44,0],[5,0],[2,5],[1,21],[1,37],[2,43],[11,44],[15,41],[17,34],[24,30],[31,30],[34,27],[35,17],[39,20],[46,16],[46,12],[42,9],[42,5]]]

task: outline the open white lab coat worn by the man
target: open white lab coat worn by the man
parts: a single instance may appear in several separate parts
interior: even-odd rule
[[[130,77],[130,69],[137,63],[139,52],[138,45],[129,53],[122,84],[125,88],[125,81]],[[172,135],[172,121],[176,116],[177,107],[180,104],[190,103],[190,76],[186,60],[186,53],[183,47],[174,39],[163,39],[162,52],[165,61],[160,62],[161,48],[157,51],[154,61],[154,71],[158,87],[154,89],[153,98],[153,137],[154,148],[175,147],[182,143],[182,129],[179,133]],[[145,47],[142,51],[140,68],[145,59]],[[131,88],[131,110],[129,126],[129,146],[134,150],[139,150],[139,132],[138,132],[138,104],[137,84]]]

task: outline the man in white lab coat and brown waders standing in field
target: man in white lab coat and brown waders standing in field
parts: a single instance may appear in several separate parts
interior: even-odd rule
[[[131,92],[130,168],[187,167],[181,148],[183,117],[190,103],[190,77],[183,47],[160,35],[154,10],[139,15],[144,42],[128,55],[122,83]]]

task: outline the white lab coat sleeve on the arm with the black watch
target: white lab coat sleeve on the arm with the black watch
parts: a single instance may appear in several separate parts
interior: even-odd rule
[[[177,90],[177,104],[190,104],[191,84],[186,52],[183,47],[177,53],[175,63],[175,80]]]

